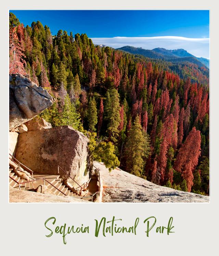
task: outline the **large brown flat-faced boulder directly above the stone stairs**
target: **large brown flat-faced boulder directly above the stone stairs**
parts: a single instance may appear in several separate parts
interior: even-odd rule
[[[92,169],[88,141],[70,126],[28,131],[19,134],[15,157],[38,174],[58,174],[59,165],[82,185]],[[78,187],[61,169],[59,174],[72,188]]]

